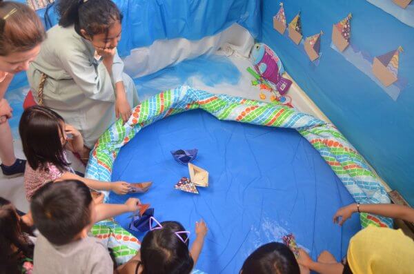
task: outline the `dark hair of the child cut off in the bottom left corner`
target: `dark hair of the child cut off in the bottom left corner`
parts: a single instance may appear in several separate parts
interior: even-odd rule
[[[17,247],[17,252],[12,246]],[[34,245],[21,230],[21,221],[16,208],[3,197],[0,197],[0,273],[14,274],[19,272],[20,255],[33,258]]]

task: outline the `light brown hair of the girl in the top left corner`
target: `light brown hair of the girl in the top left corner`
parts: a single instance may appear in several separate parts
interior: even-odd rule
[[[23,3],[0,0],[0,56],[32,50],[45,38],[34,10]]]

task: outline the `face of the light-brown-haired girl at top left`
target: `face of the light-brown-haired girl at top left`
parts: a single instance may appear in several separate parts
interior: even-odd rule
[[[32,50],[12,52],[10,55],[0,56],[0,70],[16,74],[28,70],[29,64],[36,59],[40,52],[40,44]]]

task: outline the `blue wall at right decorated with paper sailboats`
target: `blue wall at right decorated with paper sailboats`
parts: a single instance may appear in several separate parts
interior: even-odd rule
[[[323,30],[319,63],[273,29],[279,1],[262,0],[262,41],[389,186],[414,205],[414,28],[362,0],[286,0],[284,8],[288,22],[301,10],[304,37]],[[375,57],[404,48],[398,75],[408,84],[396,101],[331,48],[333,23],[349,12],[351,43],[363,52]]]

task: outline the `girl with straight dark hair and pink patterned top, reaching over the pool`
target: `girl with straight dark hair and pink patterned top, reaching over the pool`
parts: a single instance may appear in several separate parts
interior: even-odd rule
[[[32,106],[21,116],[19,133],[23,152],[28,159],[24,174],[26,197],[30,201],[33,193],[49,181],[79,179],[94,190],[113,190],[126,194],[130,184],[126,182],[99,182],[82,178],[72,173],[66,159],[65,149],[74,153],[83,148],[83,139],[78,130],[65,124],[63,118],[50,108]],[[71,135],[71,138],[68,138]],[[145,192],[151,183],[141,184]]]

